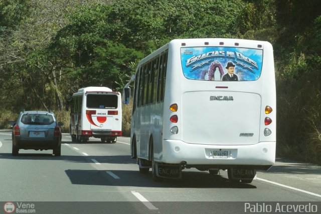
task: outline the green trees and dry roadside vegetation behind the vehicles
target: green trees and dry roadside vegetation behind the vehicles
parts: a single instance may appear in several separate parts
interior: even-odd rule
[[[103,3],[102,3],[103,2]],[[176,38],[269,41],[277,85],[277,156],[321,164],[321,2],[110,0],[0,2],[0,128],[52,110],[81,87],[115,91],[137,62]],[[129,135],[130,106],[123,106]]]

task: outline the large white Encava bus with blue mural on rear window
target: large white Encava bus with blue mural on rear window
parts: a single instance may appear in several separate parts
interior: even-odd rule
[[[250,183],[274,164],[270,43],[173,40],[142,59],[133,79],[131,156],[141,173],[152,168],[157,180],[181,178],[185,168],[222,169],[230,181]]]

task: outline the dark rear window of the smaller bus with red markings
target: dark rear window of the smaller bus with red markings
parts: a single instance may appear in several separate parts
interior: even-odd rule
[[[87,108],[117,109],[118,96],[110,94],[87,94]]]

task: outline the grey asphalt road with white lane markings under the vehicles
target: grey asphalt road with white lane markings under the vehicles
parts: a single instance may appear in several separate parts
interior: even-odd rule
[[[62,141],[61,157],[52,150],[12,156],[11,131],[0,130],[0,213],[8,201],[20,210],[28,202],[27,211],[32,203],[36,213],[253,213],[271,207],[277,213],[284,204],[321,212],[320,166],[277,159],[251,184],[229,182],[226,171],[196,169],[184,170],[181,180],[154,182],[151,170],[140,174],[130,158],[129,138],[72,143],[63,134]]]

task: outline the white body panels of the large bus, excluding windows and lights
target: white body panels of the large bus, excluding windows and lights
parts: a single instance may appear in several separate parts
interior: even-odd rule
[[[238,43],[238,47],[263,50],[260,77],[255,81],[239,82],[187,79],[181,64],[182,43],[185,47],[204,47],[205,42],[213,47],[224,42],[222,48],[235,47]],[[153,56],[144,58],[140,64],[166,48],[164,46]],[[273,165],[276,91],[271,44],[238,39],[182,39],[171,41],[168,50],[164,102],[162,105],[156,103],[153,108],[139,106],[133,113],[131,139],[136,138],[137,157],[150,159],[148,142],[152,136],[154,160],[160,163],[186,161],[187,165],[221,165],[221,168],[224,165]],[[210,100],[211,96],[232,96],[233,100]],[[177,112],[170,110],[174,103],[178,105]],[[266,105],[273,109],[269,115],[264,112]],[[177,123],[170,121],[173,115],[178,116]],[[265,117],[273,119],[268,126],[264,125]],[[179,129],[177,134],[170,132],[174,126]],[[269,128],[272,134],[264,136],[265,128]],[[246,137],[241,133],[249,135]],[[212,155],[211,158],[209,152],[215,149],[231,151],[231,156],[215,159]]]

